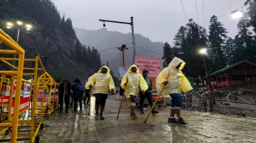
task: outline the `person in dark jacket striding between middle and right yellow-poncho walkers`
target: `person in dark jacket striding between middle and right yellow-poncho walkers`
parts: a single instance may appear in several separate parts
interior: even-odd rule
[[[146,84],[149,86],[149,88],[145,91],[145,93],[143,94],[142,91],[139,92],[139,108],[140,108],[140,112],[142,114],[144,114],[144,109],[143,109],[143,103],[144,103],[144,100],[145,98],[149,101],[149,105],[152,107],[153,105],[153,100],[152,100],[152,93],[151,93],[151,90],[152,90],[152,81],[150,79],[150,77],[148,76],[149,75],[149,71],[147,71],[146,69],[144,69],[142,71],[142,74],[143,74],[143,77],[146,81]],[[152,110],[152,114],[157,114],[159,113],[159,111],[157,111],[156,109],[153,109]]]

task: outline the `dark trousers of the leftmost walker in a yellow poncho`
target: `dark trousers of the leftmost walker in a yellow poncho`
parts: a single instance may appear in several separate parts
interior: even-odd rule
[[[95,100],[95,110],[96,113],[99,113],[99,108],[100,108],[100,113],[102,114],[105,108],[106,100],[107,100],[107,94],[104,93],[95,93],[94,94],[96,100]]]

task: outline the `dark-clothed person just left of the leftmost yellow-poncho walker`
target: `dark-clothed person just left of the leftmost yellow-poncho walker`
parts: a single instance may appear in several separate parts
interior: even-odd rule
[[[74,111],[78,112],[78,102],[79,102],[79,107],[80,107],[80,112],[82,112],[82,96],[79,95],[78,93],[78,84],[82,84],[80,79],[75,78],[75,84],[72,85],[72,91],[73,91],[73,98],[74,98]],[[82,84],[83,85],[83,84]]]

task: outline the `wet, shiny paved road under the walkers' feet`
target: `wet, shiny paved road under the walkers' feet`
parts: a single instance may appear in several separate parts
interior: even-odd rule
[[[140,115],[137,110],[138,119],[130,120],[129,108],[123,103],[119,120],[116,120],[119,102],[114,98],[107,99],[105,120],[95,120],[94,115],[88,117],[87,107],[83,113],[55,111],[44,122],[50,127],[40,131],[40,142],[256,142],[255,118],[183,111],[188,122],[183,127],[167,123],[169,108],[157,108],[161,113],[151,115],[144,124],[146,114]]]

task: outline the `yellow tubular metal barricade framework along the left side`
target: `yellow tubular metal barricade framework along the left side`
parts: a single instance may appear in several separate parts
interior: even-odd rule
[[[43,106],[41,107],[41,119],[40,121],[35,120],[35,115],[36,109],[37,109],[37,101],[38,101],[38,88],[40,86],[43,86],[43,88],[48,88],[47,86],[54,86],[54,89],[56,88],[57,83],[53,80],[53,78],[46,72],[46,69],[43,67],[43,63],[41,62],[41,59],[36,56],[35,59],[25,59],[25,51],[16,43],[14,42],[13,39],[6,33],[4,33],[3,30],[0,29],[0,41],[4,42],[5,45],[8,45],[11,47],[12,50],[0,50],[0,54],[17,54],[19,55],[18,58],[2,58],[0,57],[0,61],[4,62],[5,64],[9,65],[14,69],[14,71],[0,71],[0,84],[3,85],[3,82],[8,83],[11,86],[10,90],[10,98],[9,98],[9,112],[8,112],[8,120],[1,122],[0,127],[5,127],[4,130],[1,130],[0,135],[3,135],[4,132],[9,130],[9,128],[12,128],[11,131],[11,138],[5,138],[5,139],[0,139],[0,142],[7,142],[11,141],[16,142],[18,140],[30,140],[30,142],[34,142],[36,139],[36,135],[38,134],[38,131],[41,127],[41,124],[43,123]],[[16,60],[18,61],[18,67],[15,67],[13,64],[11,64],[8,61],[13,61]],[[23,67],[24,62],[35,62],[35,67]],[[33,70],[28,73],[23,73],[23,70]],[[44,80],[42,81],[41,76],[38,77],[38,71],[43,71],[43,75],[45,75]],[[6,78],[5,75],[11,75],[11,79]],[[33,76],[33,82],[26,81],[25,79],[22,79],[23,76]],[[48,78],[46,78],[48,76]],[[11,102],[12,102],[12,94],[13,94],[13,87],[14,87],[14,79],[17,79],[17,85],[16,85],[16,98],[15,98],[15,104],[14,104],[14,117],[11,117]],[[31,110],[31,119],[29,120],[19,120],[18,115],[19,113],[19,108],[20,108],[20,100],[21,100],[21,84],[23,82],[26,82],[28,84],[31,84],[33,86],[33,101],[32,101],[32,108],[29,108]],[[50,88],[51,89],[51,88]],[[1,91],[1,88],[0,88]],[[31,89],[32,91],[32,89]],[[49,92],[49,98],[51,96],[51,93]],[[55,97],[55,92],[54,92],[54,97]],[[3,98],[3,97],[1,97]],[[43,101],[43,100],[42,100]],[[50,101],[50,100],[48,100]],[[3,102],[2,102],[3,103]],[[48,103],[48,105],[53,105],[52,110],[47,110],[47,114],[50,115],[50,113],[53,112],[53,110],[58,108],[58,104],[55,105],[55,100],[53,103]],[[57,99],[58,103],[58,99]],[[30,103],[31,105],[31,103]],[[4,105],[1,104],[1,107]],[[26,124],[26,125],[23,125]],[[17,137],[18,135],[18,127],[30,127],[31,132],[30,132],[30,137]],[[36,131],[34,131],[36,127]]]

